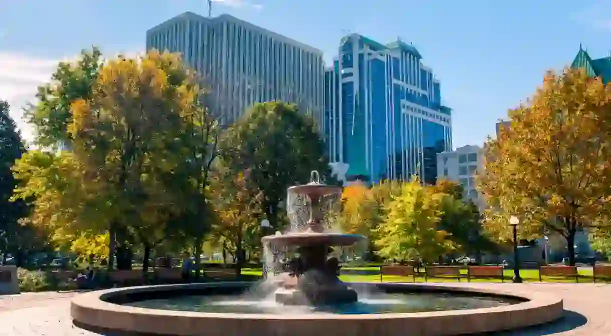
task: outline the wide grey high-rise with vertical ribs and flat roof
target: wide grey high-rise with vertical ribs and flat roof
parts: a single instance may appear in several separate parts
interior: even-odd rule
[[[147,50],[182,54],[211,89],[211,107],[234,122],[257,101],[296,103],[320,123],[323,53],[304,43],[238,20],[186,12],[147,31]]]

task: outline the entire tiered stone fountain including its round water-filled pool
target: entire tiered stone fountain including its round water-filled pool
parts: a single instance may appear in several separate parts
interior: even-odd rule
[[[325,215],[342,189],[311,181],[288,188],[288,232],[262,238],[263,282],[113,288],[71,302],[76,326],[101,334],[395,336],[496,332],[554,321],[562,299],[507,285],[344,283],[337,247],[364,239],[335,232]],[[280,257],[295,252],[290,260]],[[277,266],[281,267],[278,268]]]

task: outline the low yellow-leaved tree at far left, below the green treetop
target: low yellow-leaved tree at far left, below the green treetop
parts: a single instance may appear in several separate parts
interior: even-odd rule
[[[16,161],[13,170],[20,183],[12,200],[31,208],[22,223],[30,237],[38,235],[54,247],[76,250],[79,237],[102,233],[100,223],[109,209],[87,193],[82,166],[73,154],[30,150]]]

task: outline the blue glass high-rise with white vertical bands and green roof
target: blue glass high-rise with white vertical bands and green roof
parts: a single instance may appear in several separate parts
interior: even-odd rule
[[[436,181],[437,153],[452,150],[452,115],[414,46],[351,34],[324,76],[321,128],[348,180]]]

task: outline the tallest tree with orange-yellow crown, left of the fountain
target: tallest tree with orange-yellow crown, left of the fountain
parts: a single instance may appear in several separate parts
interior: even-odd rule
[[[103,184],[99,192],[112,205],[106,214],[109,269],[115,253],[121,257],[118,262],[126,263],[119,268],[130,267],[134,237],[163,231],[157,225],[180,211],[168,176],[190,149],[180,139],[192,124],[190,115],[199,109],[199,93],[194,74],[180,57],[152,51],[138,59],[106,62],[91,97],[72,103],[68,131],[75,156],[84,175]]]

